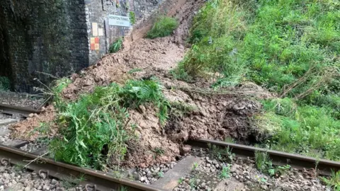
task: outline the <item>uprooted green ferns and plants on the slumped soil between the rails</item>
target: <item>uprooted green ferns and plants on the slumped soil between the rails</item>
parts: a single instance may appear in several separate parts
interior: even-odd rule
[[[49,150],[57,161],[96,169],[103,169],[108,159],[120,163],[127,154],[128,141],[135,140],[133,128],[127,127],[129,109],[153,103],[159,110],[160,124],[168,116],[169,103],[156,79],[97,87],[75,101],[60,96],[68,82],[57,81],[52,90],[60,137],[52,139]]]

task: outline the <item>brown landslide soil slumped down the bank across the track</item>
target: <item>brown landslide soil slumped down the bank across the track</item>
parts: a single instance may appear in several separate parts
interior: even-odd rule
[[[123,50],[108,54],[94,66],[74,74],[72,83],[63,92],[64,98],[74,100],[81,93],[93,91],[95,86],[157,76],[165,86],[164,95],[170,102],[196,108],[183,116],[171,115],[165,127],[160,127],[157,111],[151,105],[142,106],[139,111],[130,110],[130,123],[137,125],[136,134],[140,139],[137,144],[129,146],[128,166],[145,167],[174,161],[176,156],[188,150],[188,146],[183,146],[183,141],[188,139],[233,137],[247,141],[261,138],[256,137],[259,133],[251,126],[249,119],[261,108],[254,97],[270,97],[268,92],[253,83],[215,92],[209,89],[211,81],[201,79],[196,83],[186,83],[169,75],[187,50],[188,29],[203,0],[168,1],[171,5],[169,2],[174,6],[168,15],[178,18],[180,22],[173,35],[148,40],[142,38],[147,32],[146,28],[137,28],[130,37],[125,38]],[[128,74],[130,69],[136,68],[142,71]],[[13,129],[24,134],[37,125],[21,122]],[[157,155],[157,149],[165,153]]]

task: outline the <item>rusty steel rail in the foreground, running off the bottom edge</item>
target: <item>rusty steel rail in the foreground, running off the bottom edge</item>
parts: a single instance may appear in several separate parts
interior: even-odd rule
[[[7,162],[14,165],[26,166],[29,170],[34,170],[39,172],[39,174],[45,173],[59,180],[72,180],[83,177],[84,181],[80,184],[85,185],[86,190],[88,187],[91,187],[93,190],[113,191],[123,186],[127,187],[129,191],[164,191],[152,185],[137,183],[126,178],[115,178],[113,175],[103,173],[99,170],[72,166],[3,145],[0,145],[0,162],[3,165]]]

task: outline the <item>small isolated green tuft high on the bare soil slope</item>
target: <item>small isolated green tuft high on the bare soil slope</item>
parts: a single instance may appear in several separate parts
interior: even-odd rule
[[[172,32],[174,32],[178,25],[179,23],[175,18],[160,16],[157,18],[152,29],[147,33],[147,38],[153,39],[169,36]]]

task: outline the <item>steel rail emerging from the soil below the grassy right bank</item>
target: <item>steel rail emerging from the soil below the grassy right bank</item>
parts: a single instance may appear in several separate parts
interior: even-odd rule
[[[331,175],[331,172],[340,170],[340,162],[329,161],[325,159],[313,158],[310,156],[302,156],[300,154],[290,154],[281,151],[273,151],[270,149],[262,149],[254,146],[246,146],[242,144],[232,144],[225,141],[215,141],[211,139],[197,139],[196,141],[188,141],[187,144],[192,146],[200,146],[207,148],[209,145],[217,145],[229,147],[232,153],[238,157],[246,158],[255,156],[256,151],[266,152],[276,166],[290,165],[299,170],[317,168],[317,173],[320,175]]]

